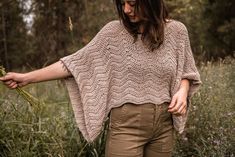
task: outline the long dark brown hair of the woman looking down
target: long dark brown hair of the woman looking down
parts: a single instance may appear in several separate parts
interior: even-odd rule
[[[167,22],[168,11],[163,0],[136,0],[135,14],[140,22],[130,22],[122,8],[122,0],[114,0],[119,18],[135,41],[139,34],[139,27],[143,28],[142,41],[152,51],[159,48],[164,40],[164,24]]]

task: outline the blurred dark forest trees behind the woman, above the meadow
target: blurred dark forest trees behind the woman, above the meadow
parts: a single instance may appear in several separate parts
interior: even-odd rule
[[[166,0],[188,30],[197,62],[235,54],[235,1]],[[107,22],[112,0],[1,0],[0,65],[38,68],[74,53]]]

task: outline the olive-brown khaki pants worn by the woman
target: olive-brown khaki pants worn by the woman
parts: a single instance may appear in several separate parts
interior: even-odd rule
[[[169,103],[126,103],[113,108],[106,141],[106,157],[170,157],[173,149]]]

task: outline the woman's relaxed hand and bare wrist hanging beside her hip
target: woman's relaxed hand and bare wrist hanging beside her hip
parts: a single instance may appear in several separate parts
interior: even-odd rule
[[[187,96],[188,96],[189,82],[182,80],[181,88],[172,97],[171,103],[168,107],[168,112],[174,115],[181,116],[187,111]]]

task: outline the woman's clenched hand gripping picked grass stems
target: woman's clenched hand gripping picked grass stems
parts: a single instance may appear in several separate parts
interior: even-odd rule
[[[5,76],[0,77],[0,81],[3,81],[3,83],[10,89],[23,87],[30,83],[30,81],[27,80],[27,73],[23,74],[14,72],[9,72]]]

